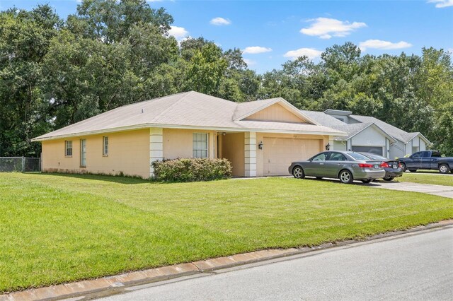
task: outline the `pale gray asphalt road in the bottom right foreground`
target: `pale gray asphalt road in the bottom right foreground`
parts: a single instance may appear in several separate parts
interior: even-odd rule
[[[128,289],[105,300],[453,300],[453,227]]]

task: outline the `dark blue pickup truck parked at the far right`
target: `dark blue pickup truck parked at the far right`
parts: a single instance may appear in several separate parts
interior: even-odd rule
[[[403,171],[439,170],[441,174],[453,171],[453,158],[442,157],[438,151],[419,151],[408,158],[399,158]]]

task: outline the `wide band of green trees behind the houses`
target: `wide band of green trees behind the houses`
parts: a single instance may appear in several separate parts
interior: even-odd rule
[[[453,66],[443,49],[363,55],[351,42],[257,74],[240,49],[177,42],[173,17],[145,0],[84,0],[66,20],[49,5],[0,13],[0,156],[39,155],[30,139],[132,102],[197,90],[243,102],[282,97],[420,131],[453,155]]]

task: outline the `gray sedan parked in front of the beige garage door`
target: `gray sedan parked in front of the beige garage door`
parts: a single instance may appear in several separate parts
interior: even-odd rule
[[[350,184],[355,179],[369,183],[373,179],[385,177],[381,161],[370,160],[367,156],[352,151],[325,151],[306,161],[289,165],[288,171],[297,179],[305,176],[338,178]]]

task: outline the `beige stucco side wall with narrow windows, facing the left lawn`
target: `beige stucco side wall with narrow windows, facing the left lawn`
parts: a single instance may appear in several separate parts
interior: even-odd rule
[[[108,156],[103,155],[103,136],[108,136]],[[86,167],[80,167],[81,139],[86,139]],[[71,157],[64,156],[66,140],[72,141]],[[148,178],[149,129],[42,141],[42,170],[108,175],[122,172]]]

